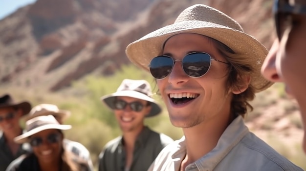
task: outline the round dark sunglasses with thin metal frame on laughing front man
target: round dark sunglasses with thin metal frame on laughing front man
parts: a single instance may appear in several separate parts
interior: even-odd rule
[[[197,78],[204,76],[208,72],[212,60],[229,64],[227,62],[214,59],[205,52],[193,52],[187,54],[183,60],[174,60],[172,57],[166,55],[154,57],[151,60],[149,67],[154,78],[163,79],[171,73],[175,62],[181,61],[182,68],[186,75]]]

